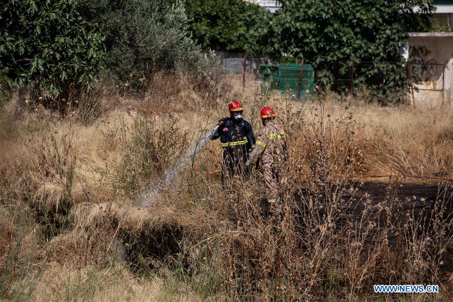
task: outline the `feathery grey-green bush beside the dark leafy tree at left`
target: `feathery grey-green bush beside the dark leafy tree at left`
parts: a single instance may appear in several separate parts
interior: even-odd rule
[[[187,31],[184,7],[165,0],[81,0],[79,10],[106,36],[103,72],[126,92],[143,92],[160,70],[198,75],[206,59]]]

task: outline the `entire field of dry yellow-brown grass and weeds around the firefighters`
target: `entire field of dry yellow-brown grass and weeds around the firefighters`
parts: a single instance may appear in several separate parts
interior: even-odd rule
[[[423,210],[427,221],[403,210],[399,182],[378,204],[357,193],[372,176],[453,178],[451,107],[341,103],[330,94],[300,103],[229,78],[201,88],[171,80],[157,77],[144,100],[87,100],[102,112],[96,120],[86,116],[91,109],[81,120],[42,106],[2,119],[3,297],[395,298],[374,296],[376,283],[440,284],[432,299],[451,295],[441,280],[452,250],[451,188]],[[255,132],[268,105],[288,134],[283,201],[270,214],[260,171],[222,189],[216,142],[162,185],[232,98],[243,101]],[[8,117],[12,107],[2,110]],[[156,187],[148,207],[133,206]]]

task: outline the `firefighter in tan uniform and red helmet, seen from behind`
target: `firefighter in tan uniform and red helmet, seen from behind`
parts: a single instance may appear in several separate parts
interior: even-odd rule
[[[274,122],[275,113],[270,107],[261,110],[261,121],[264,128],[258,136],[255,147],[250,154],[246,167],[253,165],[263,155],[263,177],[268,189],[267,201],[276,202],[278,188],[283,180],[283,163],[287,161],[284,132]]]

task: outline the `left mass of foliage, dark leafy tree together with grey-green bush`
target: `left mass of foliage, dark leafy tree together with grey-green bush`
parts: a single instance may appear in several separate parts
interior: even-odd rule
[[[0,92],[31,84],[58,97],[101,75],[140,94],[160,70],[217,66],[192,40],[179,1],[8,0],[0,14]]]

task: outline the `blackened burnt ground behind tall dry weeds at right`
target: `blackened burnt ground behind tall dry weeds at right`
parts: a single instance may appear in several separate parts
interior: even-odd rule
[[[342,195],[343,202],[341,207],[340,218],[336,221],[337,232],[342,232],[342,226],[346,224],[346,221],[356,220],[362,218],[363,211],[365,208],[365,200],[370,202],[368,209],[368,215],[365,219],[373,219],[376,226],[368,234],[368,240],[365,244],[370,247],[376,244],[373,240],[373,233],[376,234],[379,230],[387,229],[388,242],[390,246],[397,247],[401,243],[401,236],[397,238],[394,231],[390,231],[390,225],[402,226],[408,223],[409,217],[413,217],[414,220],[418,219],[420,228],[414,232],[417,234],[406,234],[408,240],[413,237],[419,237],[422,233],[425,236],[428,234],[431,238],[433,236],[433,221],[435,218],[441,220],[443,223],[451,222],[453,220],[453,186],[445,184],[421,184],[421,183],[391,183],[391,182],[375,182],[367,181],[360,185],[357,184],[357,191],[355,193],[345,193]],[[308,191],[301,192],[302,195],[296,197],[296,202],[299,205],[299,211],[304,211],[304,205],[302,200],[306,198],[310,193]],[[306,195],[307,194],[307,195]],[[305,196],[304,196],[305,195]],[[364,197],[366,196],[366,198]],[[351,201],[351,202],[348,202]],[[318,199],[318,202],[321,200]],[[442,207],[439,205],[443,204]],[[393,210],[390,212],[388,207],[382,210],[382,206],[392,205]],[[380,210],[381,208],[381,210]],[[440,214],[439,214],[440,213]],[[318,214],[323,215],[323,210],[319,209]],[[348,218],[346,218],[348,217]],[[389,218],[390,221],[389,222]],[[438,219],[440,218],[441,219]],[[304,232],[305,225],[303,220],[299,219],[300,224],[297,228],[300,228],[299,232]],[[451,225],[451,224],[450,224]],[[410,232],[410,228],[406,228],[407,232]],[[446,237],[453,235],[452,229],[446,230]],[[404,239],[403,239],[404,240]],[[399,241],[399,242],[398,242]],[[405,244],[405,243],[403,243]],[[301,247],[303,249],[303,247]],[[441,276],[440,281],[449,288],[453,286],[453,242],[450,242],[447,247],[447,251],[442,257],[443,264],[441,265]]]

